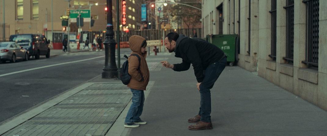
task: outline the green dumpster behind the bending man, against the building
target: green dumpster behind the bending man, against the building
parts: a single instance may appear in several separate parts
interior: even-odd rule
[[[207,35],[209,43],[216,45],[227,56],[227,63],[233,66],[237,61],[236,40],[237,34]]]

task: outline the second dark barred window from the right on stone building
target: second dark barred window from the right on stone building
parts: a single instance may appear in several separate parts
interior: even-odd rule
[[[294,0],[287,0],[286,6],[286,57],[288,63],[293,63],[294,56]]]

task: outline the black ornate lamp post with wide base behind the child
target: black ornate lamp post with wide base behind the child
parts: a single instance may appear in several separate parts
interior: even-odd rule
[[[115,58],[115,46],[116,41],[113,39],[113,25],[112,25],[112,0],[107,0],[107,27],[106,27],[106,39],[103,44],[105,47],[105,63],[102,71],[102,78],[117,78],[118,68]],[[110,60],[110,63],[109,63]]]

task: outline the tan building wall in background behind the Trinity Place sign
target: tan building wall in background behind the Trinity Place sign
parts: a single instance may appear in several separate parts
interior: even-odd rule
[[[78,9],[78,5],[74,5],[74,1],[78,0],[71,0],[70,4],[71,7],[70,9]],[[134,24],[135,29],[137,29],[137,25],[140,25],[140,4],[137,4],[135,1],[135,4],[132,3],[132,0],[126,0],[127,1],[127,6],[132,6],[135,8],[135,12],[132,12],[131,10],[127,9],[127,14],[128,15],[133,15],[135,16],[136,20],[132,20],[127,18],[127,23],[128,24]],[[89,0],[80,0],[80,2],[87,3]],[[107,24],[107,14],[104,12],[104,7],[106,5],[102,5],[106,3],[106,0],[94,0],[90,1],[91,3],[98,2],[98,6],[92,6],[91,7],[91,15],[92,16],[98,16],[98,19],[95,19],[94,26],[91,27],[92,31],[102,31],[106,28]],[[76,3],[76,2],[75,2]],[[121,0],[120,0],[120,11],[121,11]],[[82,5],[82,6],[87,6],[87,5]],[[114,30],[117,28],[116,25],[116,1],[112,1],[112,6],[113,6],[113,26]],[[0,11],[0,22],[3,22],[3,13],[2,13],[2,1],[0,3],[1,11]],[[43,31],[43,25],[47,24],[47,30],[48,33],[51,32],[52,29],[52,23],[51,23],[51,0],[39,0],[39,19],[38,20],[33,20],[31,18],[32,16],[32,1],[31,0],[24,0],[23,1],[23,7],[24,7],[24,16],[23,20],[16,20],[16,0],[5,0],[5,23],[6,25],[9,25],[10,27],[10,34],[15,34],[15,33],[44,33]],[[53,31],[62,31],[62,26],[61,26],[61,15],[65,15],[66,9],[68,7],[68,2],[65,0],[53,0]],[[85,7],[83,9],[89,9],[89,7]],[[46,15],[47,13],[47,15]],[[120,18],[121,18],[122,13],[120,12]],[[46,17],[47,17],[47,22],[46,22]],[[73,23],[72,23],[73,24]],[[76,30],[77,32],[77,26],[73,25],[71,28],[72,31]],[[84,22],[84,26],[81,27],[82,31],[88,31],[89,30],[89,22]],[[134,30],[133,28],[129,28],[130,30]],[[7,32],[6,32],[7,33]],[[50,34],[51,35],[51,34]],[[6,36],[7,37],[7,36]],[[9,36],[8,36],[9,37]],[[52,40],[52,38],[49,38]]]

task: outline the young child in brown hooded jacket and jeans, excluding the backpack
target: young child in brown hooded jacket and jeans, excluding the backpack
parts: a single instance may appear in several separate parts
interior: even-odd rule
[[[129,56],[128,58],[128,73],[131,76],[129,84],[130,91],[133,93],[132,105],[129,107],[125,119],[125,127],[135,128],[139,127],[139,124],[146,124],[146,121],[142,120],[143,105],[144,105],[144,90],[149,82],[149,68],[146,64],[146,40],[138,35],[133,35],[129,38],[129,48],[132,50],[131,54],[137,54],[137,56]]]

